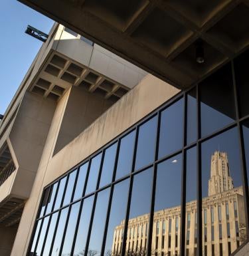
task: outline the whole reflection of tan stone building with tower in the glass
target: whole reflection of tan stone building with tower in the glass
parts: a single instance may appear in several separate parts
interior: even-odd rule
[[[246,241],[242,186],[234,188],[228,156],[216,151],[210,160],[208,197],[202,201],[203,255],[229,256]],[[179,255],[181,207],[153,214],[151,255]],[[149,214],[129,219],[125,255],[146,255]],[[197,201],[186,203],[185,255],[197,256]],[[121,255],[124,221],[115,227],[112,255]]]

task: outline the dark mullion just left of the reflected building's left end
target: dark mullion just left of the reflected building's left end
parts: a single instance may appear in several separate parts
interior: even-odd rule
[[[118,156],[120,153],[120,139],[118,140],[117,144],[117,150],[116,150],[116,156],[115,156],[115,162],[114,162],[114,170],[112,173],[112,185],[111,185],[111,189],[110,189],[110,197],[109,197],[109,201],[108,201],[108,210],[106,213],[106,225],[104,228],[104,235],[103,235],[103,241],[102,241],[102,247],[101,247],[101,251],[100,251],[100,255],[104,255],[104,250],[106,247],[106,236],[107,236],[107,232],[108,232],[108,225],[109,225],[109,218],[110,218],[110,211],[111,211],[111,207],[112,207],[112,197],[113,197],[113,193],[114,193],[114,180],[115,180],[115,176],[116,176],[116,169],[118,166]]]

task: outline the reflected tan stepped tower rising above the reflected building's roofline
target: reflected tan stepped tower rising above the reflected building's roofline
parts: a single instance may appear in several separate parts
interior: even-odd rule
[[[232,190],[232,188],[234,188],[234,184],[230,177],[227,154],[216,151],[211,158],[208,196]]]

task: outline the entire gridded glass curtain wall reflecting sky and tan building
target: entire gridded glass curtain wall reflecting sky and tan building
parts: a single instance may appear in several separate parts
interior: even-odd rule
[[[179,93],[47,186],[28,255],[229,256],[244,245],[248,60]]]

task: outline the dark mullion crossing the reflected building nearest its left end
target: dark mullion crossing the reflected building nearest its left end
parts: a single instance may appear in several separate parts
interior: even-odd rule
[[[121,256],[125,255],[125,247],[126,247],[126,239],[127,239],[127,227],[129,223],[129,209],[131,206],[131,194],[132,194],[132,186],[133,186],[133,170],[135,168],[135,158],[137,154],[137,141],[138,141],[138,134],[139,134],[139,126],[135,126],[135,142],[133,145],[133,160],[131,165],[131,172],[129,174],[129,191],[128,191],[128,199],[126,205],[126,213],[125,213],[125,222],[124,222],[124,235],[122,239],[122,248],[121,248]]]

